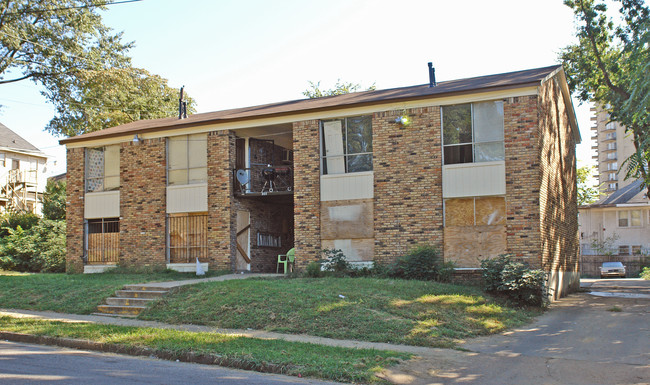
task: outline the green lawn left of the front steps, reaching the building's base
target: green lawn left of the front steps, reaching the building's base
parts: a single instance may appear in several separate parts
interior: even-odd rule
[[[225,272],[210,271],[208,276]],[[197,278],[194,273],[30,274],[0,271],[0,307],[90,314],[124,285]]]

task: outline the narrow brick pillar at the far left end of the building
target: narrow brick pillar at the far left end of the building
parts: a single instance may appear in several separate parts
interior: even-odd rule
[[[68,273],[83,272],[84,154],[83,148],[67,150],[65,270]]]

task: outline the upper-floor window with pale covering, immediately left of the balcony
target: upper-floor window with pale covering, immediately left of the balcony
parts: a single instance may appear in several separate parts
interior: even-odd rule
[[[208,135],[194,134],[167,139],[167,184],[208,181]]]

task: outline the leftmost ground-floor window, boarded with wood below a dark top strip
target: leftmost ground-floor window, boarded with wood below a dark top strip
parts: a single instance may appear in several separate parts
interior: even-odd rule
[[[89,264],[117,263],[120,254],[119,218],[90,219],[86,234],[86,259]]]

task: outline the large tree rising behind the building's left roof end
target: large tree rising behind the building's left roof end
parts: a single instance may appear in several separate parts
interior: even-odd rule
[[[0,0],[0,86],[25,80],[42,85],[56,109],[47,126],[54,134],[176,114],[177,91],[134,68],[127,55],[133,43],[103,24],[98,11],[114,2]]]

